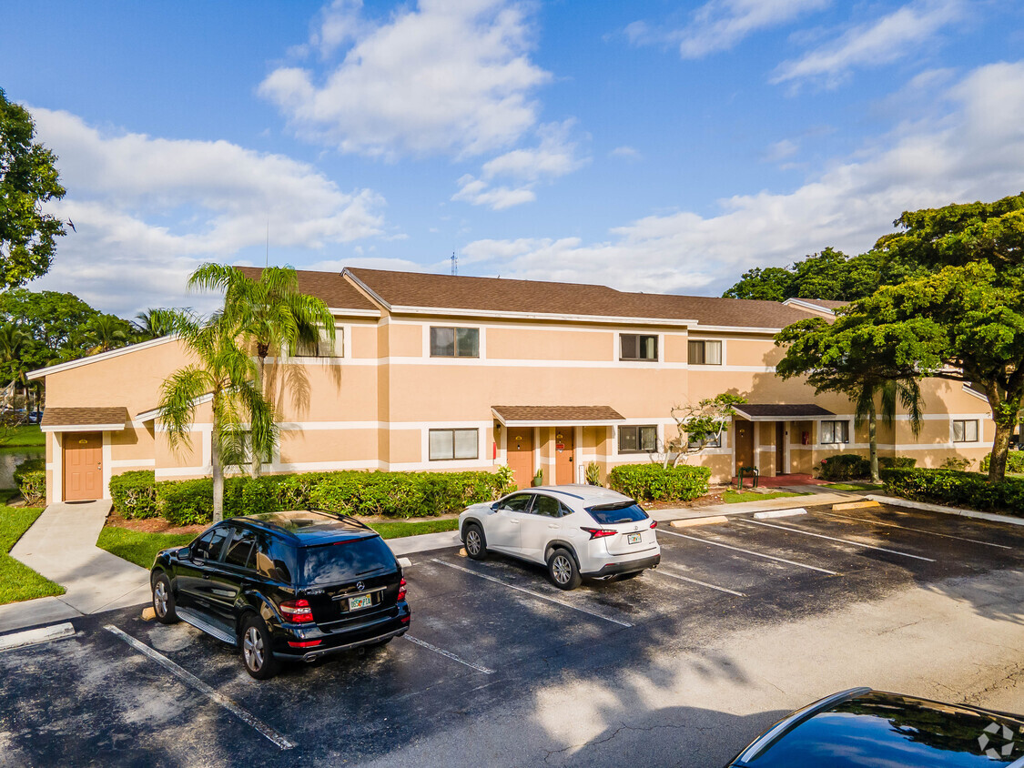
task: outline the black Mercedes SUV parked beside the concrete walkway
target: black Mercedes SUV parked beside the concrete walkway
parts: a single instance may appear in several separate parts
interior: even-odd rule
[[[246,670],[384,645],[409,629],[406,580],[375,530],[326,512],[271,512],[219,522],[157,555],[157,618],[179,618],[236,647]]]

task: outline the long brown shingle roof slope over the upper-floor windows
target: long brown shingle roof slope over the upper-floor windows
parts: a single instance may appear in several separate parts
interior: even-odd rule
[[[689,319],[707,326],[783,328],[807,313],[774,301],[626,293],[607,286],[502,278],[349,268],[391,306],[529,312],[644,319]]]

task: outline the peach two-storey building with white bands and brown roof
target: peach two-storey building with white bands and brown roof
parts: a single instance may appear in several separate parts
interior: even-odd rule
[[[240,267],[252,278],[260,270]],[[782,303],[626,293],[603,286],[347,268],[299,271],[327,302],[333,349],[271,358],[281,439],[263,471],[495,470],[520,485],[582,481],[586,466],[658,459],[673,406],[721,392],[749,403],[720,445],[696,459],[713,477],[738,467],[809,473],[840,453],[867,454],[866,427],[842,395],[782,381],[772,336],[835,302]],[[114,474],[210,473],[209,404],[184,451],[162,432],[161,384],[188,361],[173,337],[52,366],[45,379],[47,501],[104,498]],[[925,421],[880,426],[880,455],[938,466],[977,462],[994,425],[984,397],[925,382]]]

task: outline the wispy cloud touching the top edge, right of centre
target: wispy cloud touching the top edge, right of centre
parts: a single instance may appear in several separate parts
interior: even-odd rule
[[[778,27],[805,13],[827,7],[831,0],[711,0],[693,11],[681,30],[652,28],[634,22],[625,32],[634,44],[670,42],[683,58],[702,58],[728,50],[751,34]]]

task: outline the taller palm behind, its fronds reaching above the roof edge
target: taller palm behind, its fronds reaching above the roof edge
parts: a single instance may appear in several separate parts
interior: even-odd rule
[[[288,350],[318,344],[322,333],[334,347],[334,315],[321,299],[299,291],[292,267],[266,267],[254,281],[226,264],[203,264],[193,272],[188,287],[224,292],[223,314],[254,348],[256,388],[264,396],[266,358],[271,349],[286,356]],[[259,455],[254,453],[253,474],[258,475],[260,468]]]

